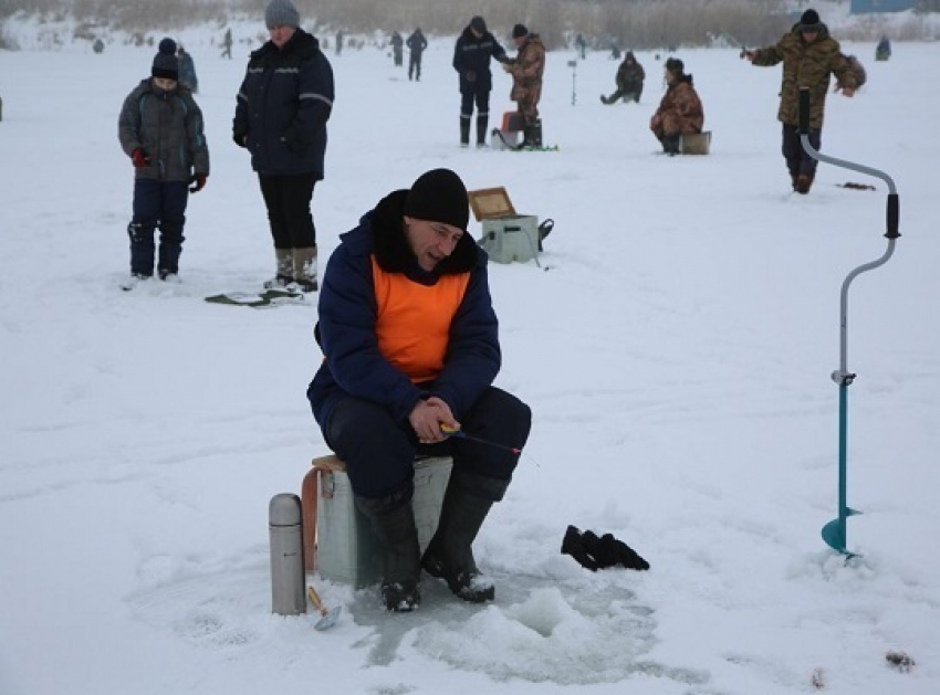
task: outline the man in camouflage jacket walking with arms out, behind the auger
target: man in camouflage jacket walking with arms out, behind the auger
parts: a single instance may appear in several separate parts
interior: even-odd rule
[[[800,89],[805,87],[810,91],[810,144],[818,150],[823,141],[829,75],[836,76],[843,95],[849,97],[855,95],[858,86],[855,75],[839,51],[838,41],[829,36],[828,28],[815,10],[806,10],[800,22],[775,45],[745,51],[743,57],[763,67],[783,62],[777,112],[777,119],[783,124],[783,157],[793,190],[806,194],[816,176],[816,160],[803,151],[800,139]]]

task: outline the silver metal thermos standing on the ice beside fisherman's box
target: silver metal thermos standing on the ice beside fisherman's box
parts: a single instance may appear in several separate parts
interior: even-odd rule
[[[301,499],[282,493],[268,507],[271,535],[271,611],[280,615],[306,612]]]

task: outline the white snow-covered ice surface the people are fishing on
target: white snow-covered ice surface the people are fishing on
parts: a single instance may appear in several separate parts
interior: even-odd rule
[[[541,110],[561,150],[516,154],[458,147],[452,39],[431,41],[419,83],[382,51],[331,52],[324,263],[435,167],[556,224],[541,268],[490,266],[498,385],[534,413],[476,544],[497,601],[426,577],[420,610],[388,615],[377,590],[312,575],[343,607],[318,632],[315,611],[271,614],[267,528],[271,496],[326,453],[304,396],[315,302],[203,302],[260,291],[273,264],[230,139],[247,46],[221,60],[213,32],[181,36],[212,157],[181,282],[133,292],[116,122],[155,49],[0,53],[0,693],[790,695],[813,692],[815,668],[828,693],[940,692],[940,44],[896,42],[887,63],[845,44],[868,84],[827,104],[823,151],[887,171],[901,199],[895,256],[849,299],[848,501],[865,513],[849,564],[819,537],[836,515],[829,373],[839,288],[884,252],[887,191],[826,165],[808,196],[790,191],[779,69],[679,52],[712,154],[668,158],[647,128],[652,53],[637,52],[640,104],[599,104],[616,62],[593,53],[572,106],[574,54],[550,52]],[[509,78],[494,84],[491,125],[512,108]],[[583,569],[560,552],[568,524],[651,569]],[[889,667],[891,650],[917,666]]]

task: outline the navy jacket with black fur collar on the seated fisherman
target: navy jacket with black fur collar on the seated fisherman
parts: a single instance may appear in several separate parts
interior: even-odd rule
[[[324,360],[307,389],[313,415],[328,422],[336,402],[346,396],[373,401],[407,423],[419,400],[442,399],[458,420],[480,398],[500,370],[497,315],[487,280],[487,254],[470,234],[434,272],[420,268],[403,232],[407,190],[388,194],[359,225],[341,236],[326,264],[320,287],[316,338]],[[378,349],[377,303],[372,256],[385,272],[432,285],[449,273],[470,273],[463,301],[450,327],[443,370],[428,383],[415,385]]]

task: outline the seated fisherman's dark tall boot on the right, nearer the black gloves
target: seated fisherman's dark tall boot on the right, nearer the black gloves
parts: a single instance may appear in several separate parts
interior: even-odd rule
[[[421,567],[447,582],[471,603],[492,601],[495,589],[477,568],[471,545],[494,502],[502,499],[509,481],[455,468],[443,496],[437,531],[421,558]]]

